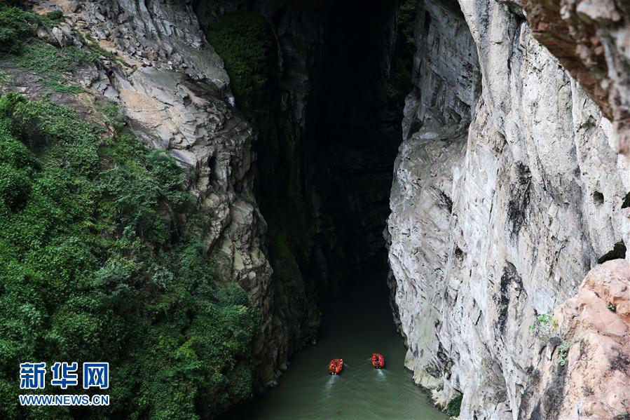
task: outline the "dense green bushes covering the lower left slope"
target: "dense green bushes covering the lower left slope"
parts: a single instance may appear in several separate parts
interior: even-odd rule
[[[252,393],[259,316],[214,284],[174,159],[103,113],[104,140],[74,109],[0,97],[0,417],[87,415],[20,407],[19,363],[99,360],[111,406],[90,416],[213,416]]]

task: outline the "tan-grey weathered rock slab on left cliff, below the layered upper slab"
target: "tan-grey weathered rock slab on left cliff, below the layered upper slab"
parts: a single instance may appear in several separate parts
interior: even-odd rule
[[[252,301],[268,312],[271,268],[260,248],[266,226],[249,175],[252,128],[208,86],[180,72],[146,67],[112,81],[144,143],[168,149],[189,170],[189,190],[211,215],[205,241],[220,250],[226,280],[252,292]]]

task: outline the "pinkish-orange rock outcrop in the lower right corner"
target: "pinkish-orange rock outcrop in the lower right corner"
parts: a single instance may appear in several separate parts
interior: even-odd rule
[[[615,259],[594,267],[577,294],[556,309],[554,319],[560,338],[540,343],[521,418],[630,414],[630,263]],[[570,346],[566,354],[563,344]]]

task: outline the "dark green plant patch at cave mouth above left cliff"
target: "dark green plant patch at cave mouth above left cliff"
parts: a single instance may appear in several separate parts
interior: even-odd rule
[[[206,37],[225,62],[236,107],[255,123],[266,103],[275,60],[269,22],[255,12],[231,13],[212,25]]]

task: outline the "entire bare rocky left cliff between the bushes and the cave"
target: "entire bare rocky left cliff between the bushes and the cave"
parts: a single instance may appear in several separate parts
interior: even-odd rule
[[[273,384],[288,357],[278,348],[292,337],[272,317],[273,270],[263,252],[267,226],[254,196],[256,136],[229,104],[221,58],[205,42],[189,4],[59,1],[58,6],[73,27],[124,63],[114,67],[102,57],[86,85],[125,107],[130,128],[146,147],[169,150],[186,169],[189,191],[205,215],[199,227],[216,256],[217,280],[238,283],[261,313],[254,355],[258,383]]]

